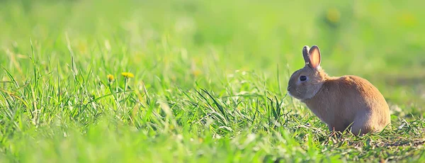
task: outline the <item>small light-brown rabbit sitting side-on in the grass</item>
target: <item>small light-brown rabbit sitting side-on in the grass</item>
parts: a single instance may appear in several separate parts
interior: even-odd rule
[[[329,77],[320,67],[320,50],[313,45],[302,49],[305,67],[288,82],[288,94],[299,99],[327,123],[329,130],[363,135],[390,125],[390,109],[380,91],[361,77]],[[348,130],[349,130],[348,129]]]

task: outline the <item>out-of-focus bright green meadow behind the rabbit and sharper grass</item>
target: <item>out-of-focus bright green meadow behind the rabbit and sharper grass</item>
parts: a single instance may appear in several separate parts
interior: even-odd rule
[[[10,55],[27,55],[30,39],[40,62],[57,64],[69,62],[68,36],[81,67],[107,41],[119,60],[96,73],[149,69],[145,80],[167,75],[186,87],[191,67],[216,80],[234,69],[271,77],[279,65],[288,77],[302,67],[302,46],[319,45],[329,74],[365,77],[392,103],[424,104],[424,10],[403,1],[2,1],[0,12],[2,65],[23,78],[28,60]]]

